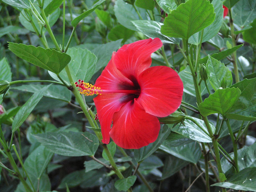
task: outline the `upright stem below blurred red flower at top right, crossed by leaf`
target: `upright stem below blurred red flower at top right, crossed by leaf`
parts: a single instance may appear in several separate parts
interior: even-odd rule
[[[232,46],[235,47],[236,46],[236,34],[234,33],[234,24],[233,24],[231,9],[228,9],[228,15],[229,15],[230,33],[231,33],[231,37],[232,37]],[[240,81],[240,79],[239,79],[239,73],[238,73],[238,67],[237,67],[236,51],[233,52],[232,58],[233,58],[235,80],[236,80],[236,83],[238,83]]]

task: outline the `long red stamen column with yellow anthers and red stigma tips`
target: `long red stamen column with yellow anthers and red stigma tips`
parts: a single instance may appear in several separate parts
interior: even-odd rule
[[[81,94],[84,94],[86,96],[92,96],[94,94],[101,95],[102,93],[127,93],[127,94],[137,95],[136,97],[134,97],[134,98],[137,98],[140,95],[140,89],[135,89],[135,90],[125,90],[125,89],[104,90],[104,89],[101,89],[100,87],[96,87],[92,84],[85,83],[83,80],[81,81],[80,79],[75,84],[76,84],[76,87],[78,88],[78,91]]]

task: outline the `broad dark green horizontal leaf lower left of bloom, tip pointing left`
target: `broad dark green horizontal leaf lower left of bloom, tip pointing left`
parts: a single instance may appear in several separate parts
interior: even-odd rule
[[[34,136],[49,150],[64,156],[93,156],[99,144],[98,138],[89,132],[46,132]]]

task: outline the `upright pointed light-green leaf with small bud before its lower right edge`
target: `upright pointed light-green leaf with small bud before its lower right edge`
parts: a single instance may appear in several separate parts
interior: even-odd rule
[[[232,74],[231,71],[220,61],[208,56],[208,61],[206,64],[207,76],[212,85],[212,88],[216,91],[221,85],[221,81],[226,78],[226,87],[230,87],[232,84]]]

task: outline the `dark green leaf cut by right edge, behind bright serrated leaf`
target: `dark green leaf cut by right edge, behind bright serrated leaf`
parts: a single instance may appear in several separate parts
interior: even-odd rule
[[[231,87],[237,87],[241,91],[241,95],[228,113],[238,115],[252,116],[256,115],[256,78],[244,79]]]

